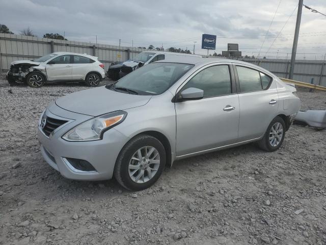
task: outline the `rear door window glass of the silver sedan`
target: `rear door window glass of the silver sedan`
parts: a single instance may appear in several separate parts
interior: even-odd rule
[[[262,90],[259,71],[242,66],[236,66],[236,71],[241,92]]]

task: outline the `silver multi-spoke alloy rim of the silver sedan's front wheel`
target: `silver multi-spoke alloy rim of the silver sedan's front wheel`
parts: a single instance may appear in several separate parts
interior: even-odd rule
[[[153,146],[144,146],[138,149],[129,161],[129,177],[135,183],[145,183],[155,176],[159,164],[158,151]]]

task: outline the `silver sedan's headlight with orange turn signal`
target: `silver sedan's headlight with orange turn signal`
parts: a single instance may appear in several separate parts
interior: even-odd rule
[[[62,136],[62,138],[67,141],[99,140],[106,130],[121,124],[126,116],[127,112],[125,111],[115,111],[92,118],[77,125]]]

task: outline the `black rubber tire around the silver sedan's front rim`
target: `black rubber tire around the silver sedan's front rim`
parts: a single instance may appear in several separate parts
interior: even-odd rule
[[[136,183],[129,176],[129,162],[132,156],[144,146],[152,146],[159,154],[159,166],[154,176],[145,183]],[[161,176],[166,164],[166,151],[164,145],[150,135],[139,135],[132,138],[121,150],[116,161],[114,176],[124,188],[128,190],[143,190],[153,185]],[[149,166],[149,165],[148,165]],[[141,169],[140,169],[141,170]],[[140,171],[138,170],[138,171]],[[144,170],[146,171],[146,170]],[[138,175],[138,172],[135,173]]]

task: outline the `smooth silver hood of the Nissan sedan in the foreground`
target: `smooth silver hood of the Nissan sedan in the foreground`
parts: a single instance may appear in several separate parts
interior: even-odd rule
[[[116,92],[103,87],[86,89],[56,100],[57,106],[79,114],[98,116],[147,104],[152,96]]]

